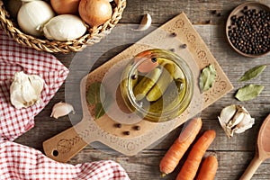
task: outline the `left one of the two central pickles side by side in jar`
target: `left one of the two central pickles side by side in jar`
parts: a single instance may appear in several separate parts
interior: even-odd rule
[[[161,76],[162,69],[156,67],[154,70],[150,71],[146,76],[144,76],[137,85],[133,88],[133,94],[136,99],[139,101],[143,99],[148,91],[156,85],[159,76]]]

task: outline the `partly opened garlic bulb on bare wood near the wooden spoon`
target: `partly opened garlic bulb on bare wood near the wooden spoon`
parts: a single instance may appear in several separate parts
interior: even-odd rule
[[[235,104],[223,108],[218,118],[229,138],[233,133],[242,133],[250,129],[255,121],[243,106]]]

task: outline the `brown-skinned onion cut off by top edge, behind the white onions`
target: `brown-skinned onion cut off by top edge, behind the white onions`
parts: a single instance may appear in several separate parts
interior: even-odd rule
[[[80,0],[50,0],[52,9],[57,14],[77,14]]]

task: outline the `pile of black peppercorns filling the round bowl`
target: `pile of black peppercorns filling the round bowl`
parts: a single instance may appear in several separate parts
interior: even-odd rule
[[[243,15],[230,18],[229,40],[233,46],[245,54],[260,55],[270,49],[270,12],[248,9]]]

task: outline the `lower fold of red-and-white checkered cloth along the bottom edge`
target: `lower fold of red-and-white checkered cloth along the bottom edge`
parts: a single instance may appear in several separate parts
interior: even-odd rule
[[[69,165],[53,161],[39,150],[0,139],[1,180],[128,180],[124,169],[112,160]]]

